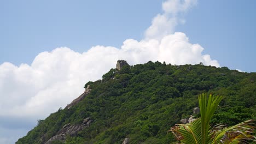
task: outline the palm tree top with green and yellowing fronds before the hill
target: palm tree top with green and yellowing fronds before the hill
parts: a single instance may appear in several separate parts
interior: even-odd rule
[[[216,111],[222,96],[212,97],[210,94],[207,101],[207,94],[199,96],[201,118],[190,124],[176,124],[171,127],[172,133],[181,143],[248,143],[248,140],[255,142],[253,120],[248,120],[231,127],[225,125],[210,126],[210,119]]]

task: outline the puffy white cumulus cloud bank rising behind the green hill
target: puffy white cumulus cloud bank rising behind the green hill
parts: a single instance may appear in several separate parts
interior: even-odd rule
[[[202,46],[191,44],[184,33],[174,32],[183,21],[179,15],[195,4],[196,0],[162,3],[164,13],[154,17],[145,38],[127,39],[121,47],[94,46],[83,53],[60,47],[39,53],[30,65],[0,64],[0,119],[7,119],[1,121],[0,130],[10,128],[8,119],[13,124],[21,124],[20,131],[34,126],[35,123],[26,122],[36,122],[65,107],[83,93],[86,82],[101,79],[110,68],[115,68],[118,59],[125,59],[131,65],[165,61],[171,64],[202,62],[219,67],[210,55],[202,55]],[[20,119],[24,121],[23,126]],[[8,142],[6,137],[0,137],[1,141]]]

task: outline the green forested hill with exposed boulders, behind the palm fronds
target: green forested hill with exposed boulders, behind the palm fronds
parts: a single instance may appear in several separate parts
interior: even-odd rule
[[[255,118],[255,81],[256,73],[227,67],[118,61],[16,143],[175,143],[167,131],[193,114],[201,93],[224,96],[212,124]]]

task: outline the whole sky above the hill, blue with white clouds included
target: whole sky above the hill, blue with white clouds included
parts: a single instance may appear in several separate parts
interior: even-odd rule
[[[255,72],[256,1],[0,1],[0,143],[14,143],[118,59]]]

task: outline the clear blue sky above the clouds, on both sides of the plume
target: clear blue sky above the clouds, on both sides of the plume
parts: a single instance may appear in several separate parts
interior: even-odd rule
[[[159,1],[1,1],[0,63],[30,64],[39,52],[67,46],[120,47],[141,40]],[[176,31],[230,69],[256,71],[255,1],[199,1]]]

